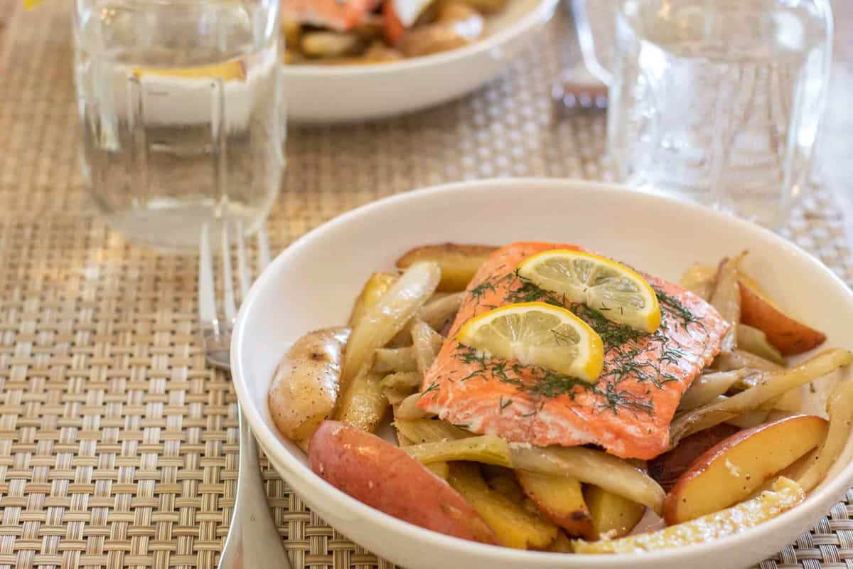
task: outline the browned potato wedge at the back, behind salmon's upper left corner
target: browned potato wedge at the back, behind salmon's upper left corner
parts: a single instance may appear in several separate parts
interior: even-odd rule
[[[397,259],[397,267],[405,269],[417,261],[432,261],[441,267],[438,290],[456,292],[465,290],[474,273],[497,247],[488,245],[461,245],[443,243],[415,247]]]

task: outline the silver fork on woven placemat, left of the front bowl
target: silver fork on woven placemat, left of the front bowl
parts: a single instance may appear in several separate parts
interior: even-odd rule
[[[231,244],[229,224],[223,223],[222,229],[222,311],[217,309],[215,287],[213,285],[213,254],[210,227],[201,229],[199,250],[199,319],[202,342],[205,348],[206,362],[219,369],[230,371],[231,329],[237,314],[233,272],[231,270]],[[251,270],[246,257],[246,242],[242,228],[236,226],[237,275],[240,281],[240,298],[245,299],[252,282]],[[266,233],[258,232],[258,272],[270,263],[270,246]],[[240,404],[237,404],[237,417],[240,423],[240,470],[237,475],[237,496],[234,513],[225,547],[219,556],[219,569],[256,569],[273,567],[290,569],[281,536],[270,514],[264,481],[261,479],[258,464],[258,446],[252,436],[252,430],[243,418]]]

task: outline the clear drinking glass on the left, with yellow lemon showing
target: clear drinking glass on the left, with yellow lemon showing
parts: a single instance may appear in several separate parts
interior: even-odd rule
[[[75,0],[81,166],[131,241],[264,221],[284,169],[277,0]]]

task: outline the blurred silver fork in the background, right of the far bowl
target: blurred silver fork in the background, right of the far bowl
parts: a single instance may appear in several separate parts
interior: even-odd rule
[[[595,42],[586,13],[585,0],[564,0],[572,14],[575,38],[581,58],[569,69],[560,83],[554,85],[552,96],[560,115],[601,112],[607,110],[607,84],[611,74],[595,56]]]

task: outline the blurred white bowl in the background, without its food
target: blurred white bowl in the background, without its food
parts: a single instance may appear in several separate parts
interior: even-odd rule
[[[554,13],[557,0],[510,0],[490,35],[460,49],[390,63],[286,65],[287,119],[380,119],[432,107],[495,78]]]

